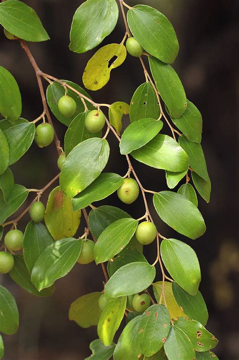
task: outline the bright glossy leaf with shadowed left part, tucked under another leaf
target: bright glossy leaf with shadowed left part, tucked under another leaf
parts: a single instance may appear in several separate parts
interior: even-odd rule
[[[158,134],[148,144],[131,155],[144,164],[168,171],[180,172],[189,166],[186,152],[168,135]]]

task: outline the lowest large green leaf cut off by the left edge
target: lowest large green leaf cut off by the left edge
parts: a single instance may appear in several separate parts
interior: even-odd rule
[[[0,331],[15,334],[19,326],[19,314],[15,298],[6,287],[0,285]]]

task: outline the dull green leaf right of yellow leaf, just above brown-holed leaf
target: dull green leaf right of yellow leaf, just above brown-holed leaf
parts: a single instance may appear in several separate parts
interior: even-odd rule
[[[202,325],[206,325],[208,320],[208,311],[204,298],[198,290],[194,296],[178,286],[175,282],[172,283],[173,296],[184,313],[193,320],[199,321]],[[183,316],[183,315],[181,315]]]

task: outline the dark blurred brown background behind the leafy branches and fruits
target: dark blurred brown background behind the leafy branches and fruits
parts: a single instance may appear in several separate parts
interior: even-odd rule
[[[69,31],[73,14],[82,1],[32,0],[33,7],[51,37],[50,41],[29,44],[36,61],[44,72],[72,80],[82,85],[82,73],[95,50],[76,54],[68,49]],[[136,1],[129,1],[136,5]],[[200,109],[203,116],[203,141],[208,171],[212,180],[211,202],[206,204],[199,197],[199,209],[204,215],[207,231],[195,242],[184,239],[197,252],[202,271],[200,290],[209,310],[207,328],[218,337],[215,349],[220,359],[236,360],[239,354],[238,330],[238,270],[237,248],[237,98],[238,98],[238,2],[219,0],[145,0],[143,3],[156,7],[172,22],[180,42],[180,52],[173,64],[182,79],[188,98]],[[120,20],[113,33],[103,44],[120,42],[125,28]],[[0,35],[0,64],[17,79],[23,98],[23,117],[32,121],[42,112],[41,98],[35,73],[18,41],[7,40]],[[147,59],[145,58],[146,63]],[[125,63],[112,71],[109,83],[93,93],[97,102],[112,103],[130,99],[135,89],[145,81],[137,58],[127,56]],[[47,85],[47,83],[45,84]],[[66,128],[53,118],[59,138],[63,141]],[[164,125],[163,132],[168,132]],[[106,170],[120,174],[127,172],[124,156],[110,135],[111,155]],[[54,144],[39,149],[34,143],[28,153],[12,169],[15,181],[28,188],[42,188],[58,171]],[[147,189],[166,189],[163,171],[142,164],[135,168]],[[34,194],[32,195],[32,197]],[[42,197],[47,201],[47,194]],[[177,236],[160,222],[150,208],[159,231],[165,236]],[[31,196],[27,202],[30,203]],[[124,208],[134,217],[142,216],[144,206],[139,197],[134,205],[119,203],[112,195],[100,204]],[[24,230],[29,215],[19,223]],[[79,234],[82,234],[84,221]],[[183,239],[183,236],[180,236]],[[150,262],[155,258],[155,244],[146,249]],[[160,273],[158,272],[158,280]],[[20,311],[20,328],[14,336],[4,336],[6,360],[75,360],[90,354],[88,345],[97,337],[96,329],[81,329],[68,320],[70,304],[79,296],[102,289],[103,276],[100,267],[93,263],[76,265],[65,278],[56,282],[56,290],[50,298],[34,297],[19,288],[8,275],[0,276],[0,282],[15,295]]]

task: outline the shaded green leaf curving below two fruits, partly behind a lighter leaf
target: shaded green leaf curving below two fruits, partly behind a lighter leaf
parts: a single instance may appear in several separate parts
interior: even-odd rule
[[[36,296],[50,296],[55,290],[54,285],[38,291],[31,282],[31,275],[27,270],[22,255],[14,256],[14,268],[10,271],[10,276],[19,286],[32,295]]]

